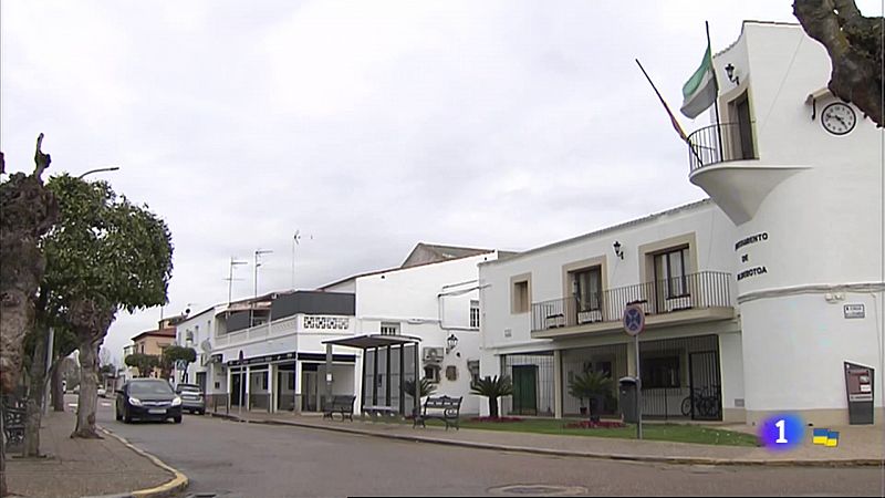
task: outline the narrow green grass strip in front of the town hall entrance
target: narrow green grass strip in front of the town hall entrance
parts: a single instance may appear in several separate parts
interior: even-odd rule
[[[428,424],[436,425],[438,421]],[[620,428],[565,428],[564,425],[579,422],[576,419],[531,418],[522,422],[475,422],[461,419],[462,428],[483,430],[511,430],[517,433],[555,434],[562,436],[617,437],[635,439],[636,426]],[[441,424],[440,425],[445,425]],[[643,438],[650,440],[668,440],[676,443],[696,443],[702,445],[759,446],[756,436],[716,427],[678,424],[643,424]]]

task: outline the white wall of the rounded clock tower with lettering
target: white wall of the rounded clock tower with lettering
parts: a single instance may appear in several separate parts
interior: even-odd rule
[[[748,73],[742,84],[750,89],[759,159],[717,167],[748,178],[760,175],[753,168],[803,168],[774,186],[732,238],[766,234],[767,240],[727,251],[736,273],[767,270],[737,282],[747,418],[798,409],[811,411],[809,422],[847,423],[843,361],[879,365],[875,382],[882,385],[882,318],[874,302],[882,299],[885,250],[882,131],[861,112],[847,135],[824,131],[821,113],[835,102],[832,95],[818,100],[812,118],[808,96],[826,86],[831,64],[799,25],[746,23],[714,65],[721,71],[732,60],[742,60]],[[722,100],[738,93],[728,85],[722,92]],[[746,185],[732,191],[753,195],[758,187]],[[852,292],[851,286],[866,283],[871,290],[877,283],[878,292]],[[827,293],[844,299],[830,303]],[[846,320],[845,303],[864,303],[867,317]],[[875,405],[882,406],[881,390]]]

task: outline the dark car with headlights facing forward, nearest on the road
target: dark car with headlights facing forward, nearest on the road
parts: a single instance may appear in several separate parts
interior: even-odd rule
[[[117,391],[115,406],[117,421],[129,423],[135,418],[181,423],[181,398],[167,381],[133,378]]]

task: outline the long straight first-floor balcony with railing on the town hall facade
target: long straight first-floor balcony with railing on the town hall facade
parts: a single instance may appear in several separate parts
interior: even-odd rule
[[[666,280],[532,303],[532,338],[553,339],[620,330],[624,309],[639,304],[646,326],[733,318],[731,273],[701,271]]]

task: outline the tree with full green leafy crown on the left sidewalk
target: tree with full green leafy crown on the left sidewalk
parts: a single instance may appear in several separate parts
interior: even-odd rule
[[[75,334],[81,382],[73,437],[95,432],[98,344],[118,310],[128,312],[166,302],[173,245],[166,224],[147,206],[133,205],[104,181],[69,175],[46,187],[59,199],[59,224],[46,235],[49,313]]]

